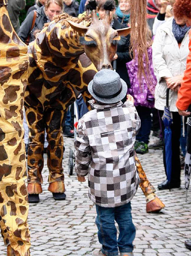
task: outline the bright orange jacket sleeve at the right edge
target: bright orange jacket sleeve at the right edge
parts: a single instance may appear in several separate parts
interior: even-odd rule
[[[191,30],[189,32],[190,42],[189,42],[189,54],[186,63],[186,70],[184,72],[184,77],[181,83],[181,88],[178,91],[178,99],[176,106],[180,110],[187,110],[188,106],[191,104]]]

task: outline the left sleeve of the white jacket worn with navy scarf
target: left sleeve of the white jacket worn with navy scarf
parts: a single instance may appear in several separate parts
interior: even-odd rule
[[[166,61],[163,58],[162,52],[162,33],[160,29],[157,29],[156,36],[152,44],[152,57],[154,69],[157,73],[159,81],[163,77],[173,77],[170,69],[166,65]]]

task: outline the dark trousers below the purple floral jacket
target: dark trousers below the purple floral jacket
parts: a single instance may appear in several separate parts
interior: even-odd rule
[[[138,135],[136,136],[136,140],[143,141],[144,143],[148,144],[152,125],[151,109],[142,106],[136,106],[136,110],[141,120],[141,128]]]

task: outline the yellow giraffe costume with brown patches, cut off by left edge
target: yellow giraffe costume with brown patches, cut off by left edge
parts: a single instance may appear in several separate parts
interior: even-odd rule
[[[0,226],[11,256],[29,256],[28,196],[23,141],[27,47],[11,25],[7,0],[0,0]]]

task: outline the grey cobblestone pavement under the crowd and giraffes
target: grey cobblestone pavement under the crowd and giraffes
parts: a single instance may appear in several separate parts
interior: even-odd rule
[[[151,141],[153,139],[151,137]],[[65,138],[65,148],[66,200],[55,201],[47,191],[48,169],[45,165],[40,203],[31,204],[29,208],[32,256],[90,256],[100,248],[94,223],[96,210],[87,195],[88,184],[79,183],[75,173],[68,175],[68,156],[69,150],[74,149],[73,139]],[[139,158],[150,182],[157,188],[157,184],[165,179],[162,150],[150,150]],[[184,246],[185,239],[191,239],[191,193],[189,191],[186,204],[184,173],[181,189],[157,191],[157,195],[166,205],[159,214],[146,213],[146,200],[140,188],[132,200],[133,221],[137,229],[134,255],[191,255]],[[0,255],[6,255],[3,240],[0,242]]]

